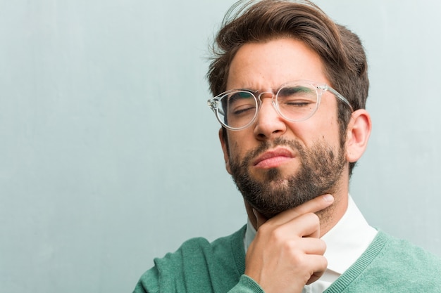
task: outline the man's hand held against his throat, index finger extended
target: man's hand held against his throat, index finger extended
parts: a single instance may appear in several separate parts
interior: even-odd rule
[[[321,195],[268,221],[254,210],[258,230],[247,251],[245,275],[266,293],[302,292],[304,285],[318,280],[328,261],[314,213],[333,200],[331,195]]]

